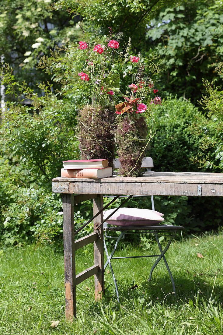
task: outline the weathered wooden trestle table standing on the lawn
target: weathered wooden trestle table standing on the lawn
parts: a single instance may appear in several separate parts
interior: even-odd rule
[[[52,179],[54,193],[62,193],[66,318],[76,316],[76,286],[94,275],[95,299],[104,293],[103,194],[223,196],[222,173],[146,172],[144,177]],[[94,232],[75,241],[74,204],[93,199]],[[102,224],[101,224],[102,223]],[[101,225],[100,225],[101,224]],[[94,243],[94,265],[76,275],[75,250]]]

